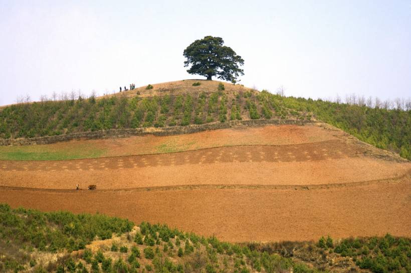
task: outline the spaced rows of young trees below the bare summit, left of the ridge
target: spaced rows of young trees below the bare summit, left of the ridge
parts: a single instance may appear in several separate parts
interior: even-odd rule
[[[105,96],[96,100],[43,101],[8,106],[0,111],[0,137],[37,137],[103,129],[187,126],[228,120],[300,118],[258,92],[224,91],[144,97]],[[293,114],[294,115],[293,115]]]

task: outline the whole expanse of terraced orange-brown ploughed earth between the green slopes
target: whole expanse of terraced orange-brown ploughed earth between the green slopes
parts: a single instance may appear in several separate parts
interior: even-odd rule
[[[138,139],[141,147],[158,143]],[[177,153],[0,161],[0,202],[99,211],[230,241],[411,236],[411,163],[341,131],[268,126],[167,140],[182,147],[190,139],[199,146]],[[139,151],[127,140],[115,140],[114,154]],[[203,148],[213,143],[238,146]],[[72,190],[76,183],[97,190]]]

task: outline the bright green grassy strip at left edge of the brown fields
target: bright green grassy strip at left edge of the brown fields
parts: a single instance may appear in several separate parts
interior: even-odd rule
[[[107,149],[84,144],[70,149],[48,145],[0,146],[0,160],[70,160],[102,157],[106,152]]]

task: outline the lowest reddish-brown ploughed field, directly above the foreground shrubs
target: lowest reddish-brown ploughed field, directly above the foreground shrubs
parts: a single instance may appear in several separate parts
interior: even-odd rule
[[[411,236],[408,181],[316,189],[55,191],[0,189],[13,207],[107,213],[230,241]]]

